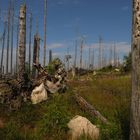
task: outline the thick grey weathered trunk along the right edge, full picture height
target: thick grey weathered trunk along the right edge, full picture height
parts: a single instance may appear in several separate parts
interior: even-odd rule
[[[133,0],[130,140],[140,140],[140,0]]]

